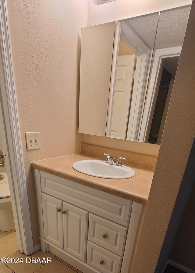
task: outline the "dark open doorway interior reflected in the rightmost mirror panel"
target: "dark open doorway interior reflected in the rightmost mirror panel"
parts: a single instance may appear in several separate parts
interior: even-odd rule
[[[179,62],[179,56],[163,59],[158,75],[158,84],[153,101],[153,114],[150,117],[147,130],[147,142],[160,144],[171,98],[173,83]]]

